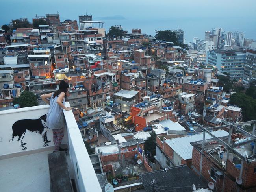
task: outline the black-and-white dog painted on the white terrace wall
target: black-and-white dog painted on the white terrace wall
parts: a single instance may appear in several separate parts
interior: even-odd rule
[[[39,119],[21,119],[13,124],[13,138],[18,136],[17,141],[19,141],[23,135],[20,144],[22,150],[26,149],[24,145],[26,145],[27,143],[23,142],[23,138],[25,134],[29,131],[41,134],[43,137],[43,146],[48,146],[47,143],[50,141],[48,141],[47,139],[47,131],[49,130],[49,128],[47,126],[46,119],[47,114],[44,114]],[[13,138],[10,141],[13,141]]]

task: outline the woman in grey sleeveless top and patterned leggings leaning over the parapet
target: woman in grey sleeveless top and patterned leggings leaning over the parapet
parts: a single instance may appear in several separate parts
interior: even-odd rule
[[[52,129],[53,133],[53,142],[55,146],[54,152],[67,150],[60,148],[60,145],[64,137],[63,128],[65,126],[63,109],[67,111],[72,109],[71,107],[65,107],[65,98],[68,88],[69,85],[62,80],[59,84],[59,90],[40,96],[45,103],[50,104],[50,110],[47,115],[47,123],[49,129]],[[47,98],[50,98],[50,102],[47,100]]]

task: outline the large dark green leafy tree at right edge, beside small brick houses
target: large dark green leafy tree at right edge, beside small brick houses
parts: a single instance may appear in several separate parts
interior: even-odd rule
[[[244,93],[234,93],[230,96],[230,104],[242,108],[243,120],[256,119],[256,100]]]

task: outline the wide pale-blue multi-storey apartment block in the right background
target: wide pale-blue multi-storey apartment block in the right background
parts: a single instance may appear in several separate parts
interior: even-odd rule
[[[242,81],[245,57],[245,50],[212,50],[207,52],[206,64],[217,68],[221,73],[229,73],[237,81]]]

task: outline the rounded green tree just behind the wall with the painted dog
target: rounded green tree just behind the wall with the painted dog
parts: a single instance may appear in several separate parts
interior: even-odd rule
[[[33,94],[32,92],[24,90],[19,97],[13,100],[13,105],[15,104],[19,104],[20,107],[37,106],[37,96],[35,96],[35,94]]]

